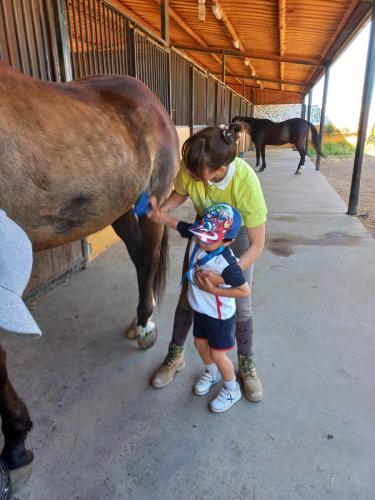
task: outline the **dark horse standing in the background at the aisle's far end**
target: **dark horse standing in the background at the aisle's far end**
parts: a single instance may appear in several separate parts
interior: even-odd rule
[[[251,139],[255,144],[257,163],[259,167],[260,155],[262,155],[262,166],[259,172],[263,172],[266,168],[266,146],[282,146],[283,144],[294,144],[297,148],[301,159],[296,170],[296,174],[300,174],[300,168],[305,164],[305,144],[311,130],[312,142],[315,150],[321,156],[322,152],[319,148],[319,136],[315,126],[302,118],[291,118],[283,122],[273,122],[264,118],[248,118],[246,116],[235,116],[233,122],[243,122],[245,128],[249,131]]]

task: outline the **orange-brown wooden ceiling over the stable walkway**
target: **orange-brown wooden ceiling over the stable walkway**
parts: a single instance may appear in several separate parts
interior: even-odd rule
[[[160,0],[112,3],[160,36]],[[246,97],[251,100],[300,102],[324,66],[364,25],[371,3],[205,0],[205,21],[199,21],[198,0],[169,0],[170,42],[184,47],[190,58],[219,77],[225,49],[226,83],[242,93],[246,78]],[[213,6],[220,10],[221,19],[214,16]]]

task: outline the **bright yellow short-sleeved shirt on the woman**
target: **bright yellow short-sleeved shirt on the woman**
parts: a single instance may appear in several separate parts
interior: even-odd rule
[[[234,171],[233,171],[234,167]],[[214,203],[228,203],[239,210],[243,224],[256,227],[267,220],[267,206],[258,176],[254,170],[241,158],[235,158],[229,166],[230,182],[221,181],[217,187],[209,185],[207,191],[202,181],[196,181],[187,172],[184,160],[174,182],[178,194],[189,195],[198,215]],[[226,176],[226,177],[227,177]],[[224,184],[224,186],[223,186]]]

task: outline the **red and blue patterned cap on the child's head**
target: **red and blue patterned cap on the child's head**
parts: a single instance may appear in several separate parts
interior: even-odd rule
[[[192,224],[189,231],[206,245],[232,240],[242,225],[240,212],[227,203],[215,203],[206,208],[202,218]]]

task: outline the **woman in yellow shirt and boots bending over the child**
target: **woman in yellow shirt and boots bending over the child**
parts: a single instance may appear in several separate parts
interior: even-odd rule
[[[161,210],[170,212],[187,198],[191,199],[198,216],[214,203],[223,202],[236,207],[243,226],[231,248],[239,258],[239,265],[251,287],[254,262],[264,248],[267,207],[256,173],[245,161],[236,157],[236,142],[241,132],[241,125],[233,123],[225,128],[208,127],[191,136],[182,148],[183,159],[174,191]],[[215,284],[223,283],[221,276],[211,274],[208,278]],[[168,354],[152,379],[152,385],[157,389],[168,385],[175,373],[185,366],[184,343],[193,320],[185,288],[182,287],[176,308]],[[250,401],[260,401],[262,384],[254,366],[252,339],[253,320],[249,296],[236,301],[239,375],[246,397]],[[207,366],[206,370],[209,378],[210,367]]]

